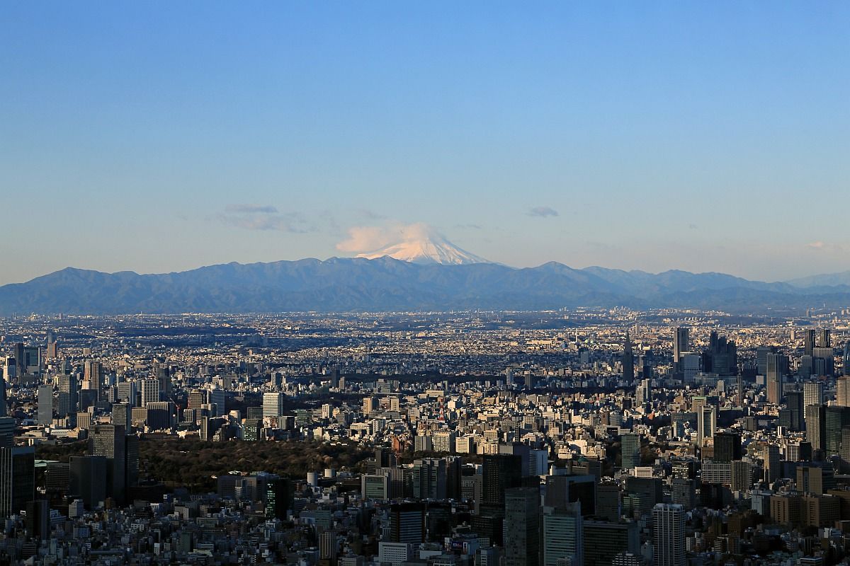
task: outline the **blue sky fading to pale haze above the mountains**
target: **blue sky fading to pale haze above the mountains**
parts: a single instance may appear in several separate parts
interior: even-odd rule
[[[420,222],[513,266],[846,271],[850,3],[8,2],[0,197],[0,283]]]

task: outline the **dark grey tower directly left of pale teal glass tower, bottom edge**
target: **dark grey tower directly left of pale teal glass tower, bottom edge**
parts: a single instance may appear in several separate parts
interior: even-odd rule
[[[505,566],[537,566],[540,563],[540,490],[513,487],[505,490],[503,523]]]

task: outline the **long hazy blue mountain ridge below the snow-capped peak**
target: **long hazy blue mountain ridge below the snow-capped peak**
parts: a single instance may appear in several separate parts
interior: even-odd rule
[[[0,287],[0,316],[277,311],[671,307],[793,313],[850,305],[850,272],[786,283],[723,273],[658,274],[550,262],[442,265],[391,257],[305,259],[139,275],[66,268]]]

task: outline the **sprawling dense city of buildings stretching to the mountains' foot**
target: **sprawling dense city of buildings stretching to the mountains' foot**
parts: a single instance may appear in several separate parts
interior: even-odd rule
[[[0,561],[836,564],[850,310],[13,317]]]

